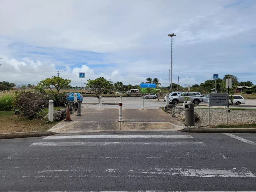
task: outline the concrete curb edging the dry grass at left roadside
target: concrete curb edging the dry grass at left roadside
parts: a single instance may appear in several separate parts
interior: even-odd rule
[[[0,139],[15,139],[24,137],[42,137],[58,134],[53,131],[31,131],[31,132],[16,132],[0,134]]]

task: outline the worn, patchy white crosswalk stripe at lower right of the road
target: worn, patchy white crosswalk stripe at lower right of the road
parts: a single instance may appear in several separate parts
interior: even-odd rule
[[[184,168],[169,168],[169,169],[138,169],[137,171],[130,171],[131,173],[142,174],[163,174],[172,176],[194,176],[194,177],[256,177],[256,174],[250,172],[248,169],[234,168],[234,169],[184,169]]]

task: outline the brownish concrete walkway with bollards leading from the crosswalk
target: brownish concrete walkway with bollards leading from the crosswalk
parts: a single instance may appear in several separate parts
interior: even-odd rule
[[[118,122],[119,109],[82,108],[82,116],[71,115],[71,122],[61,121],[49,131],[58,133],[119,130],[179,130],[184,128],[161,109],[123,109],[124,122]]]

